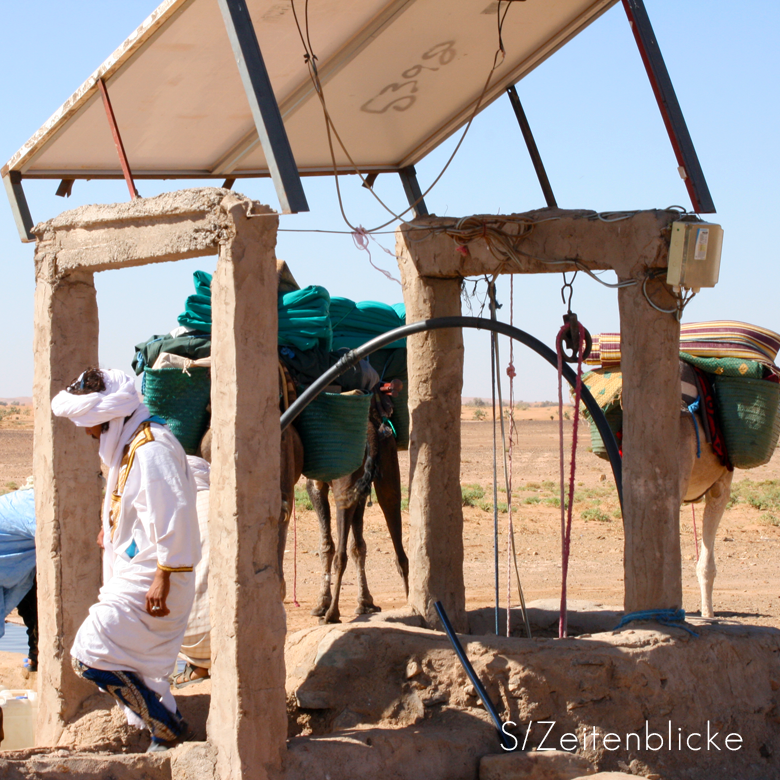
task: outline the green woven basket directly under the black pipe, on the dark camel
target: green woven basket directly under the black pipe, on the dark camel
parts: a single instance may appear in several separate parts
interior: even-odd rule
[[[320,393],[295,424],[303,442],[303,474],[331,482],[360,468],[366,451],[370,395]]]

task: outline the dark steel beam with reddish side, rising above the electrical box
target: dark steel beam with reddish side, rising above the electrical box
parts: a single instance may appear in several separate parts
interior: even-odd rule
[[[647,76],[658,101],[666,132],[672,142],[674,154],[677,157],[680,175],[688,188],[688,195],[693,204],[693,210],[699,214],[714,214],[715,204],[712,202],[704,172],[699,164],[696,149],[693,146],[688,126],[685,124],[677,95],[672,86],[672,80],[666,69],[661,49],[658,46],[650,17],[643,0],[623,0],[631,30],[634,33],[639,54],[642,57]]]

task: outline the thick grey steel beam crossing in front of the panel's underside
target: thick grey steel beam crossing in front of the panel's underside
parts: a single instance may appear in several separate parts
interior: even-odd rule
[[[282,211],[286,214],[308,211],[298,166],[246,0],[219,0],[219,7]]]

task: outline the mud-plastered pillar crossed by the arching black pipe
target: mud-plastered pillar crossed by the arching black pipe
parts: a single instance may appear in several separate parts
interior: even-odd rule
[[[406,321],[460,315],[460,279],[419,276],[397,234]],[[460,404],[463,334],[431,331],[408,338],[409,603],[436,625],[441,601],[457,631],[467,631],[463,583],[463,500],[460,491]]]

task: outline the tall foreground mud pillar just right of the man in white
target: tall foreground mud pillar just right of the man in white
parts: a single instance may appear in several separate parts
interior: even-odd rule
[[[286,750],[286,619],[277,544],[278,219],[223,203],[235,228],[212,282],[212,695],[209,741],[221,780],[268,778]],[[255,213],[269,213],[255,205]]]

